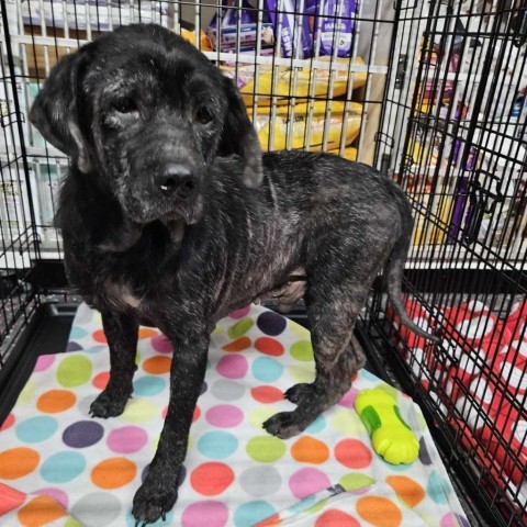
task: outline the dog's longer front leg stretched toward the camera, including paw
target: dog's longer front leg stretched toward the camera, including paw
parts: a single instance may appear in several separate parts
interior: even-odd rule
[[[156,522],[176,503],[192,415],[205,377],[208,334],[199,338],[171,340],[175,355],[170,369],[170,401],[156,455],[134,496],[136,525]]]

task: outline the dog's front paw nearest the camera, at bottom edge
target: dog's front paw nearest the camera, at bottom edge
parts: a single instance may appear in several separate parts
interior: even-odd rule
[[[150,483],[146,478],[143,485],[139,486],[134,496],[134,507],[132,514],[136,520],[136,526],[154,524],[159,518],[166,518],[168,513],[178,498],[178,487],[164,485],[162,481]]]

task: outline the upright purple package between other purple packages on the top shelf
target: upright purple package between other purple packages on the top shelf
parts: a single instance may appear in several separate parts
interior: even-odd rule
[[[280,10],[278,9],[280,3]],[[265,0],[264,7],[271,18],[274,33],[280,36],[281,54],[283,57],[290,58],[309,58],[312,54],[313,35],[311,33],[310,18],[304,10],[300,12],[301,0]],[[281,18],[280,18],[281,14]],[[301,23],[299,26],[299,15]],[[282,31],[278,35],[278,26],[282,22]],[[300,31],[300,45],[295,49],[298,32]]]

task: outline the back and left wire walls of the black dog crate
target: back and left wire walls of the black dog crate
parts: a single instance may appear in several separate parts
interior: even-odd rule
[[[233,78],[264,149],[327,150],[372,164],[394,11],[382,1],[339,2],[330,12],[319,5],[313,0],[1,2],[0,374],[5,382],[21,370],[15,365],[24,346],[13,348],[31,333],[27,325],[43,299],[71,296],[53,226],[68,161],[26,119],[57,60],[119,25],[158,23]],[[70,316],[52,305],[46,321],[58,328],[49,338],[64,333],[61,324]]]

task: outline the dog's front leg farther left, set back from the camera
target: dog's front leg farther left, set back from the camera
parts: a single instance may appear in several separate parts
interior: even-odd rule
[[[135,354],[139,326],[131,314],[103,311],[101,315],[110,347],[110,380],[91,403],[90,414],[92,417],[105,418],[121,415],[132,395],[132,380],[137,369]]]

